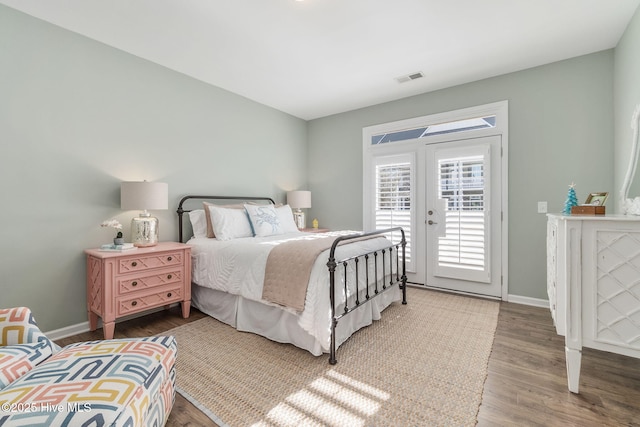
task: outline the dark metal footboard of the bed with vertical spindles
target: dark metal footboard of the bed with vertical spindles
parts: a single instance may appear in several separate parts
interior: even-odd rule
[[[389,246],[382,249],[378,249],[372,252],[358,254],[345,259],[336,260],[335,252],[336,248],[343,243],[349,243],[350,240],[358,240],[367,238],[370,236],[389,234],[391,232],[400,232],[402,238],[399,243],[389,243]],[[329,252],[329,261],[327,267],[329,268],[329,298],[331,303],[331,348],[329,354],[329,363],[335,365],[338,361],[336,359],[336,327],[338,321],[356,310],[358,307],[366,304],[375,297],[382,295],[385,291],[391,289],[394,285],[398,285],[402,289],[402,304],[407,303],[407,275],[405,264],[405,248],[407,242],[405,240],[404,230],[402,227],[388,228],[386,230],[378,230],[370,233],[357,234],[352,236],[338,237],[331,246]],[[395,262],[394,262],[395,261]],[[364,266],[362,265],[364,264]],[[336,274],[339,274],[336,270],[338,266],[343,266],[344,276],[343,284],[337,284]],[[355,293],[352,298],[349,298],[349,284],[347,283],[347,268],[351,267],[355,271]],[[370,270],[373,268],[373,274]],[[381,274],[378,272],[381,270]],[[360,278],[364,274],[364,281],[366,289],[361,289]],[[371,277],[373,276],[373,277]],[[380,277],[381,276],[381,277]],[[336,289],[336,286],[340,289]],[[338,307],[336,304],[338,300],[336,296],[338,292],[342,292],[344,300],[344,307],[338,313]],[[364,295],[361,296],[361,293]]]

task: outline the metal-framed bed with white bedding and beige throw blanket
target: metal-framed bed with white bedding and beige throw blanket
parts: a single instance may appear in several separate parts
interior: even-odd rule
[[[304,233],[268,197],[188,195],[177,213],[180,242],[190,236],[193,306],[239,331],[335,364],[355,331],[407,304],[400,227]]]

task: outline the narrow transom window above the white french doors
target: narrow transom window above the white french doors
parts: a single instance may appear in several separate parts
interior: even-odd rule
[[[389,142],[406,141],[409,139],[426,138],[445,133],[467,132],[476,129],[496,127],[496,116],[476,117],[472,119],[456,120],[453,122],[423,126],[414,129],[404,129],[396,132],[381,133],[371,137],[371,145]]]

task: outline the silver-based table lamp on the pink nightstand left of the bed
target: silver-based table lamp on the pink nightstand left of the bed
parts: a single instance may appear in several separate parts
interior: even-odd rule
[[[120,207],[123,210],[142,210],[131,220],[131,242],[147,247],[158,244],[158,218],[148,210],[169,208],[169,186],[164,182],[123,182],[120,186]]]

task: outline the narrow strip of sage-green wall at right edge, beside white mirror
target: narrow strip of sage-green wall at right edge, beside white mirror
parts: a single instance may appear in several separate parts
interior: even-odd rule
[[[615,50],[615,200],[619,202],[620,189],[631,156],[631,115],[640,104],[640,9],[627,26]],[[629,190],[629,197],[640,196],[640,172]],[[618,207],[618,203],[616,203]]]

